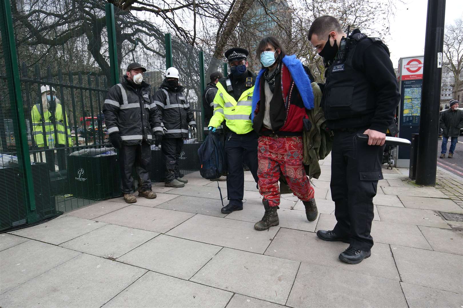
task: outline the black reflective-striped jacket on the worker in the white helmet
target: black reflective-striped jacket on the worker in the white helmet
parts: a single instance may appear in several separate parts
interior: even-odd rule
[[[188,138],[188,126],[196,124],[183,90],[182,86],[178,86],[173,91],[164,79],[154,94],[154,102],[161,111],[161,126],[167,129],[164,138]]]

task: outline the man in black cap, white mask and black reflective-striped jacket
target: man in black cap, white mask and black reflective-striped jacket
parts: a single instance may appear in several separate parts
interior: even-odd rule
[[[137,202],[132,168],[138,174],[138,197],[156,198],[151,191],[151,143],[163,138],[157,107],[150,94],[151,86],[143,80],[146,69],[137,62],[127,66],[121,83],[108,91],[103,114],[111,144],[119,150],[121,188],[127,203]]]

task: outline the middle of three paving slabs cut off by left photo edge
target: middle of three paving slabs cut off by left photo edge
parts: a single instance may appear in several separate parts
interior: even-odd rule
[[[54,245],[27,241],[0,252],[0,294],[58,266],[79,252]],[[4,306],[0,301],[0,306]]]

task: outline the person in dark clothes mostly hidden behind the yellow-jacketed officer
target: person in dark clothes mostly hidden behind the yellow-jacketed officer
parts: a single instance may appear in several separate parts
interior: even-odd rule
[[[209,124],[209,121],[211,121],[211,118],[214,113],[214,97],[217,94],[217,83],[219,82],[220,78],[223,78],[224,75],[222,75],[221,72],[213,72],[210,75],[211,82],[207,84],[206,89],[204,89],[204,94],[203,94],[203,108],[204,108],[204,134],[207,135],[209,133],[209,130],[207,129],[207,125]],[[225,126],[225,121],[220,124],[220,126],[217,128],[216,133],[219,133],[219,138],[222,140],[222,144],[225,141],[225,135],[224,135],[224,126]],[[220,176],[217,179],[213,179],[211,181],[226,181],[227,178],[225,176]]]

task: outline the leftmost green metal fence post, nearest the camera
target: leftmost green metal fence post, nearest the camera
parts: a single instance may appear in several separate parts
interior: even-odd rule
[[[2,31],[2,38],[6,35],[6,41],[8,45],[8,54],[5,54],[5,66],[6,74],[12,76],[14,99],[10,97],[11,102],[16,102],[16,111],[18,112],[19,120],[19,139],[21,142],[22,158],[26,176],[27,194],[29,198],[29,208],[31,211],[35,210],[35,195],[34,195],[34,183],[32,181],[31,171],[31,157],[29,154],[29,145],[27,144],[27,132],[26,132],[26,121],[24,116],[24,104],[23,95],[21,91],[21,81],[19,79],[19,66],[18,66],[18,55],[16,54],[16,44],[14,41],[13,31],[13,18],[11,13],[10,0],[3,0],[3,8],[5,16],[2,19],[5,20],[6,31]],[[9,64],[8,65],[8,60]]]

